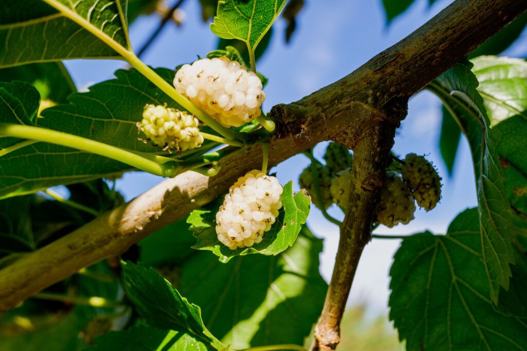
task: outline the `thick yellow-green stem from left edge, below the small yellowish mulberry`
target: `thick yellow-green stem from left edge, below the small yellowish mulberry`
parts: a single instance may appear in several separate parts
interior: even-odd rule
[[[31,125],[1,124],[0,135],[4,137],[28,138],[50,144],[62,145],[73,149],[91,152],[97,155],[123,162],[145,172],[161,177],[175,177],[181,172],[178,164],[167,162],[160,164],[149,160],[135,152],[127,151],[95,140],[78,137],[77,135],[58,132],[51,129],[40,128]]]

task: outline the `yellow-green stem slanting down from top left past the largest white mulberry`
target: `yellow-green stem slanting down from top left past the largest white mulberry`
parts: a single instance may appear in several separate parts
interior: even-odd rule
[[[121,46],[118,42],[114,41],[113,38],[110,37],[108,34],[102,32],[99,28],[94,26],[90,21],[87,21],[86,18],[77,14],[75,11],[73,11],[73,9],[58,2],[57,0],[43,0],[43,1],[47,3],[48,5],[51,5],[54,8],[56,8],[65,17],[71,19],[73,22],[84,27],[87,31],[95,35],[106,45],[110,46],[119,55],[121,55],[124,58],[124,60],[126,60],[126,62],[128,62],[132,67],[138,70],[142,75],[147,77],[149,81],[151,81],[157,87],[159,87],[159,89],[161,89],[165,94],[170,96],[170,98],[172,98],[174,101],[178,102],[184,109],[196,115],[197,118],[201,122],[210,126],[210,128],[212,128],[214,131],[223,135],[223,137],[226,137],[231,140],[245,141],[245,138],[246,138],[245,134],[238,133],[236,131],[232,131],[224,127],[218,121],[211,118],[208,114],[201,111],[196,105],[190,102],[185,96],[183,96],[181,93],[176,91],[175,88],[172,85],[170,85],[167,81],[165,81],[159,74],[155,73],[154,70],[152,70],[149,66],[145,65],[140,60],[140,58],[137,57],[131,50],[128,50],[127,48]]]

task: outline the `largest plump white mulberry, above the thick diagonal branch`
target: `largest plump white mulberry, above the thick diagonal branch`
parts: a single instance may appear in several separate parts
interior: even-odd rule
[[[265,101],[256,73],[227,57],[183,65],[175,74],[174,87],[224,126],[240,126],[257,118]]]

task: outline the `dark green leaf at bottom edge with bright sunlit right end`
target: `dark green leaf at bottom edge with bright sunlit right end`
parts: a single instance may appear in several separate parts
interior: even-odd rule
[[[149,325],[135,325],[121,331],[110,331],[95,339],[85,351],[207,351],[206,344],[188,334],[175,330],[158,329]]]

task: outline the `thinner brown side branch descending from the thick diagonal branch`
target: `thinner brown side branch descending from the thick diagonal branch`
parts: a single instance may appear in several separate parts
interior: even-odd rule
[[[395,128],[383,122],[374,126],[354,149],[352,183],[346,217],[340,226],[333,276],[329,283],[324,308],[315,326],[311,350],[333,350],[340,341],[342,319],[349,290],[352,287],[360,255],[371,237],[371,228],[378,190],[386,173],[386,161],[392,148]],[[344,141],[344,140],[343,140]]]

